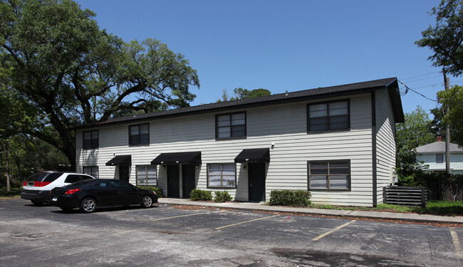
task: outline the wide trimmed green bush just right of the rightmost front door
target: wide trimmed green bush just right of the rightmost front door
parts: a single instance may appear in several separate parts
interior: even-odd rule
[[[311,192],[305,190],[272,190],[271,206],[308,206],[311,204]]]

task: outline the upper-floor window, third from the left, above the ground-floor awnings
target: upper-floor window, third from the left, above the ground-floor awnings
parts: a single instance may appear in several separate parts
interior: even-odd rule
[[[246,137],[246,113],[216,116],[215,137],[218,139]]]

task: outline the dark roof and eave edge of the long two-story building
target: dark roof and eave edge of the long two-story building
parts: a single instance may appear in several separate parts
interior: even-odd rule
[[[103,122],[95,122],[89,125],[76,127],[75,129],[113,125],[121,122],[131,122],[139,120],[148,120],[158,117],[171,117],[178,115],[191,115],[205,112],[215,112],[222,110],[231,110],[238,108],[249,108],[259,105],[271,105],[276,103],[289,103],[308,99],[326,98],[338,95],[349,95],[352,93],[365,93],[373,90],[388,89],[392,110],[394,112],[395,122],[404,122],[402,110],[402,101],[398,92],[397,78],[385,78],[380,80],[370,80],[362,83],[350,83],[346,85],[336,85],[325,88],[314,88],[296,92],[280,93],[275,95],[262,96],[259,98],[247,98],[241,100],[231,100],[226,102],[211,103],[205,105],[196,105],[188,108],[177,108],[174,110],[165,110],[150,112],[138,115],[129,115],[125,117],[114,117]]]

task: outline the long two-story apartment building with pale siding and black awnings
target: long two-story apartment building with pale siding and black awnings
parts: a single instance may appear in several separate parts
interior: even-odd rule
[[[269,201],[271,190],[309,190],[316,203],[375,206],[395,167],[397,79],[116,117],[76,129],[76,166],[100,178],[227,190]]]

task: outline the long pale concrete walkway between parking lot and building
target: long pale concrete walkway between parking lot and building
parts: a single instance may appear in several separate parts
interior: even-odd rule
[[[427,214],[403,214],[383,211],[348,211],[338,209],[309,209],[293,208],[289,206],[269,206],[261,203],[251,202],[233,202],[233,203],[215,203],[206,201],[191,201],[189,199],[158,199],[160,204],[168,205],[190,205],[190,206],[212,206],[226,209],[241,209],[247,211],[269,211],[269,212],[291,212],[296,214],[313,214],[325,216],[346,216],[351,218],[369,218],[369,219],[391,219],[396,221],[413,221],[422,223],[439,223],[439,224],[463,224],[463,216],[437,216]]]

